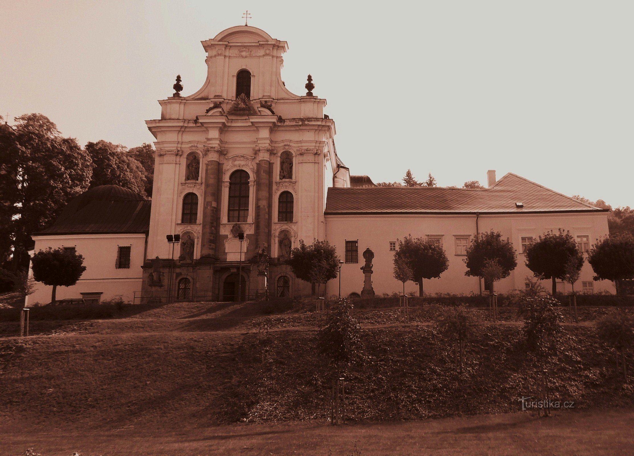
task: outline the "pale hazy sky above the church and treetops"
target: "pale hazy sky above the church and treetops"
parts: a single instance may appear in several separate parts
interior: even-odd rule
[[[0,0],[0,115],[135,147],[206,77],[200,41],[249,25],[288,42],[282,79],[328,102],[352,174],[439,186],[486,171],[634,207],[631,1]]]

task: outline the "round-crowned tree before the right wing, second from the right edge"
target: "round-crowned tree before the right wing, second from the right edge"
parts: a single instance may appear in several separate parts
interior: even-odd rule
[[[526,247],[526,266],[535,277],[552,280],[553,296],[557,294],[557,279],[566,278],[571,262],[579,268],[583,266],[583,253],[579,251],[570,231],[548,231]]]

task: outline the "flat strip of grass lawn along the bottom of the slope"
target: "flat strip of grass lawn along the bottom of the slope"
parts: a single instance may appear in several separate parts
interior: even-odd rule
[[[634,411],[528,412],[423,421],[328,426],[301,422],[172,429],[7,429],[0,452],[88,455],[625,455],[634,448]],[[356,448],[356,449],[355,449]]]

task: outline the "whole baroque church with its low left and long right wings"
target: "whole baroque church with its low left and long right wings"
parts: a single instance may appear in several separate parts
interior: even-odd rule
[[[361,292],[359,251],[367,248],[375,254],[374,291],[392,293],[402,288],[392,277],[396,241],[409,234],[434,238],[450,258],[449,269],[427,281],[426,292],[479,293],[482,283],[465,277],[462,260],[474,234],[491,229],[519,252],[517,269],[497,287],[503,292],[526,286],[532,274],[521,252],[545,231],[570,230],[585,251],[607,235],[602,209],[515,174],[497,181],[489,171],[488,188],[481,190],[377,187],[368,176],[350,176],[311,77],[304,95],[285,88],[285,41],[245,25],[202,46],[205,84],[183,96],[178,78],[173,96],[159,101],[160,119],[146,122],[157,150],[152,202],[121,188],[92,189],[78,198],[94,207],[132,211],[136,205],[136,212],[84,206],[72,212],[81,205],[73,201],[53,227],[34,237],[36,250],[64,246],[86,257],[84,277],[58,290],[61,298],[235,301],[238,293],[259,299],[267,290],[269,296],[309,295],[314,289],[294,277],[285,259],[299,240],[313,239],[327,239],[344,260],[342,294]],[[168,242],[174,235],[178,244]],[[592,276],[586,264],[576,289],[613,291]],[[338,287],[331,281],[326,295]],[[29,301],[48,302],[48,289],[41,285]]]

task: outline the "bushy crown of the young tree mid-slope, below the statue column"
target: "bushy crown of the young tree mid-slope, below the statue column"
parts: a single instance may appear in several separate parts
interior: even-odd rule
[[[326,315],[326,324],[319,332],[321,353],[341,368],[343,363],[361,358],[361,326],[353,318],[353,304],[345,297],[337,299]]]

